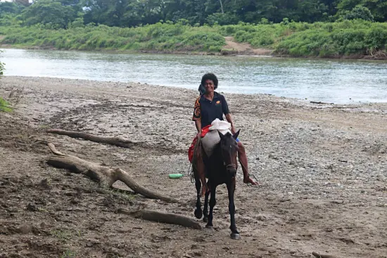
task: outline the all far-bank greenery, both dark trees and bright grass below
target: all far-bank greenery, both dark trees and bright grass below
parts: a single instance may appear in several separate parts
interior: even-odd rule
[[[386,58],[386,20],[387,0],[17,0],[0,3],[0,41],[220,53],[233,36],[279,55]]]

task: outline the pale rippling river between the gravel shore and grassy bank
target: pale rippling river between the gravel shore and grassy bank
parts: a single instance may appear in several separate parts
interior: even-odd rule
[[[205,72],[220,92],[269,93],[329,103],[387,102],[387,61],[93,53],[4,49],[5,75],[142,82],[197,89]]]

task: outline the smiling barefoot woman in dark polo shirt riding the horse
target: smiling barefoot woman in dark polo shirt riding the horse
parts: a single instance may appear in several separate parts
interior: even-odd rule
[[[196,99],[194,106],[194,116],[192,117],[192,120],[195,121],[196,129],[198,130],[198,134],[196,136],[197,138],[202,136],[202,130],[208,128],[212,121],[215,119],[223,120],[223,114],[226,117],[227,122],[231,124],[231,133],[236,133],[234,121],[232,120],[231,114],[229,112],[227,101],[223,95],[215,91],[215,89],[217,89],[217,84],[217,77],[212,73],[203,75],[201,79],[201,87],[204,86],[205,93],[201,94],[201,96]],[[239,162],[241,163],[243,171],[243,183],[257,185],[258,183],[253,181],[253,179],[251,179],[248,174],[246,150],[238,138],[236,138],[236,141],[239,148]],[[205,167],[200,152],[196,152],[196,155],[193,158],[195,159],[194,162],[196,163],[196,168],[198,169],[198,173],[201,177],[203,191],[208,191],[208,186],[205,183]]]

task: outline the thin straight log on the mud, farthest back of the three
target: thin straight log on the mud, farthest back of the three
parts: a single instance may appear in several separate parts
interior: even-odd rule
[[[94,134],[87,134],[81,131],[65,131],[61,129],[49,129],[47,130],[47,132],[49,134],[60,134],[60,135],[65,135],[72,138],[82,138],[84,140],[94,141],[96,143],[107,143],[107,144],[119,146],[122,148],[131,148],[137,144],[133,141],[129,141],[122,137],[96,136]]]

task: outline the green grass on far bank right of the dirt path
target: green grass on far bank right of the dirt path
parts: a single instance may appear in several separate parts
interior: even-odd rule
[[[387,23],[364,20],[341,22],[281,22],[274,25],[227,25],[222,35],[255,47],[269,47],[289,56],[372,56],[386,53]]]

